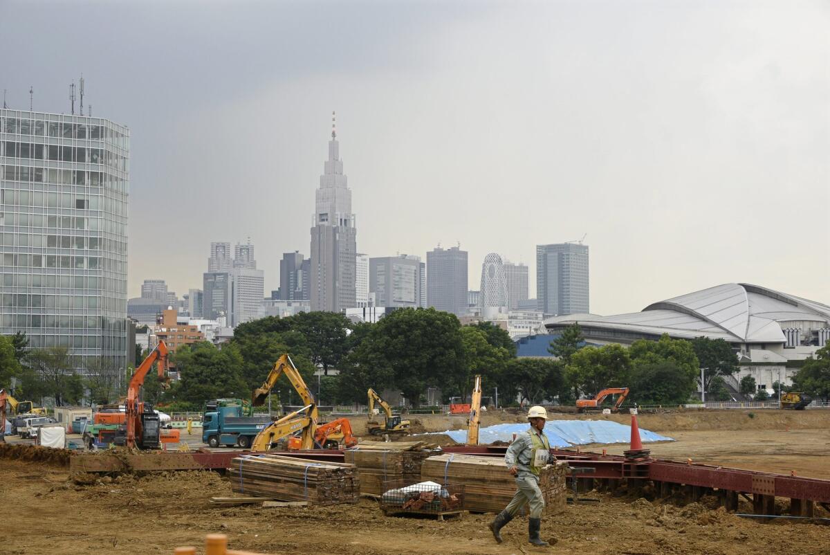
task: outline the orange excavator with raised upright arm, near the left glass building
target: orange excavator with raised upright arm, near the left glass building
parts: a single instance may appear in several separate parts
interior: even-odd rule
[[[127,425],[126,446],[129,448],[159,449],[161,447],[159,415],[149,403],[139,400],[139,392],[141,386],[144,385],[144,378],[156,362],[159,363],[159,380],[162,381],[163,386],[166,384],[168,380],[167,356],[167,345],[164,341],[159,341],[159,345],[141,362],[129,380],[127,398],[124,403]]]

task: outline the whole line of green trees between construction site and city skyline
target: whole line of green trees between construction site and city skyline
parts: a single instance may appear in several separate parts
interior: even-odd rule
[[[795,380],[800,390],[830,396],[828,349],[804,363]],[[674,405],[695,394],[701,368],[707,399],[730,398],[724,377],[738,370],[729,343],[705,337],[587,346],[579,326],[573,326],[553,338],[549,351],[555,358],[517,358],[515,343],[502,328],[490,322],[461,326],[454,315],[433,308],[398,309],[374,324],[355,324],[334,312],[302,312],[237,326],[222,346],[205,341],[179,347],[171,358],[179,379],[163,390],[151,372],[144,398],[168,410],[201,410],[205,400],[220,397],[247,398],[283,353],[291,355],[325,404],[365,403],[369,387],[401,390],[415,406],[426,401],[428,388],[438,388],[446,402],[468,395],[472,376],[481,374],[484,395],[494,396],[497,388],[500,405],[569,405],[580,396],[623,386],[633,402]],[[65,348],[29,350],[23,334],[0,336],[0,387],[17,378],[21,398],[105,404],[125,394],[125,376],[105,361],[92,361],[86,377],[70,368]],[[282,380],[275,388],[278,402],[296,403],[291,385]],[[754,384],[742,381],[741,390],[750,389]]]

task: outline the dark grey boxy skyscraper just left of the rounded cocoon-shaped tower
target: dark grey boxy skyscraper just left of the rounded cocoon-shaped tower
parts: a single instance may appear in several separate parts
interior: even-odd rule
[[[466,314],[467,253],[460,247],[437,247],[427,253],[427,305]]]

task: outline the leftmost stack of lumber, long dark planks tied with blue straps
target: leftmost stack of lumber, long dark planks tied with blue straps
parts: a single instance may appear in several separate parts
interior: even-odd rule
[[[357,503],[358,471],[352,464],[319,463],[275,454],[243,455],[231,461],[234,493],[313,505]]]

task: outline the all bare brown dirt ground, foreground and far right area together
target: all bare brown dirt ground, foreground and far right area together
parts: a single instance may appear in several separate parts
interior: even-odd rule
[[[556,415],[584,418],[581,415]],[[593,415],[590,418],[604,418]],[[626,415],[610,420],[627,422]],[[464,417],[413,415],[422,430],[463,427]],[[358,419],[354,419],[358,420]],[[483,425],[522,421],[522,415],[491,412]],[[359,432],[359,423],[355,423]],[[413,422],[413,425],[415,423]],[[649,444],[661,458],[691,459],[830,479],[830,412],[706,411],[641,415],[640,425],[676,442]],[[789,430],[789,431],[788,431]],[[435,437],[435,436],[428,436]],[[622,452],[626,446],[608,446]],[[590,447],[599,450],[602,447]],[[0,459],[2,553],[173,553],[181,545],[202,546],[208,533],[227,533],[230,546],[258,553],[830,553],[830,527],[783,521],[759,523],[715,509],[712,499],[685,507],[649,502],[648,489],[583,494],[598,504],[569,505],[546,518],[543,537],[553,548],[526,543],[526,520],[505,528],[505,543],[493,542],[492,515],[465,514],[437,522],[385,517],[377,504],[328,508],[215,507],[212,496],[230,496],[227,479],[210,472],[118,476],[76,484],[66,470],[37,462]],[[647,499],[641,499],[641,496]],[[742,501],[749,512],[749,503]],[[830,513],[817,508],[817,516]]]

